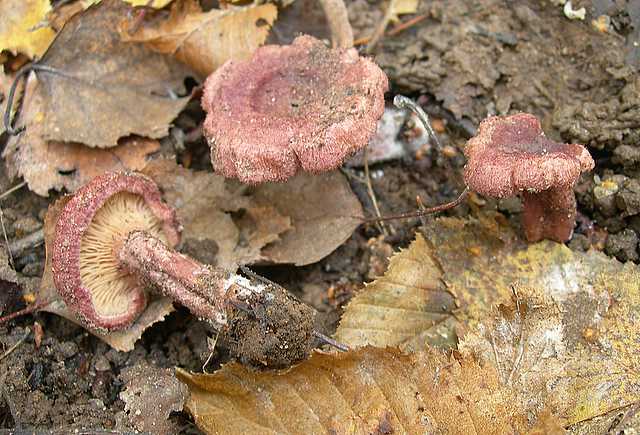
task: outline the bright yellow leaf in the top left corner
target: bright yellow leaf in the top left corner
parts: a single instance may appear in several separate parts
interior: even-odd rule
[[[49,0],[0,0],[0,51],[39,57],[55,33],[41,23],[51,10]]]

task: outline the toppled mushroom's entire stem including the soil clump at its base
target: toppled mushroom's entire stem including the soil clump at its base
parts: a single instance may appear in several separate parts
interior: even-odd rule
[[[244,364],[288,367],[315,345],[316,311],[257,275],[201,264],[144,231],[131,232],[117,256],[145,285],[207,321]]]

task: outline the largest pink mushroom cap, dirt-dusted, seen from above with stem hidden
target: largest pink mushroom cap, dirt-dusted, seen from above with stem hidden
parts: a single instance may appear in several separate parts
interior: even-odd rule
[[[310,36],[228,61],[202,98],[213,166],[250,184],[335,169],[375,133],[387,89],[384,72],[355,49]]]

